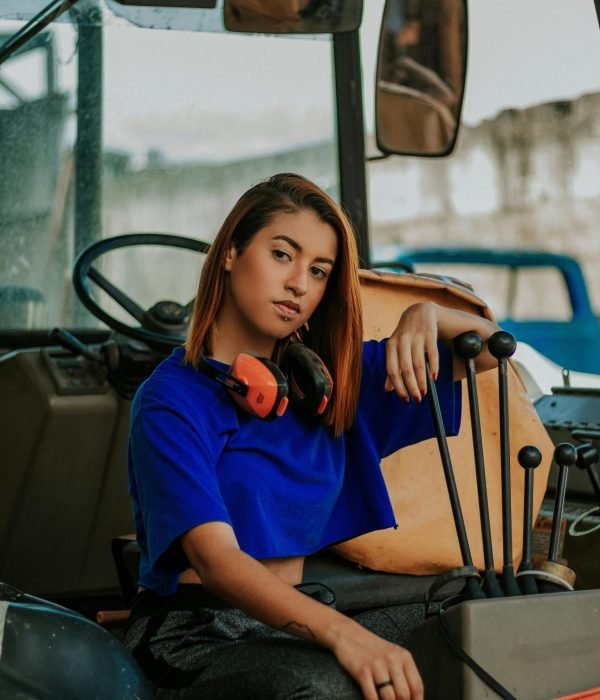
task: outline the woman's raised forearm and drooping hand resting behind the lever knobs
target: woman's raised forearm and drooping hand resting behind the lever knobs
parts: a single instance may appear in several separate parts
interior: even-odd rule
[[[453,338],[466,331],[474,331],[484,341],[483,350],[475,360],[477,371],[495,367],[497,360],[488,352],[486,341],[498,330],[500,328],[495,323],[481,316],[449,309],[432,301],[409,306],[387,342],[386,390],[395,390],[405,401],[412,397],[420,402],[427,391],[425,355],[435,379],[439,372],[438,339],[450,344]],[[464,376],[464,362],[455,355],[454,378]]]

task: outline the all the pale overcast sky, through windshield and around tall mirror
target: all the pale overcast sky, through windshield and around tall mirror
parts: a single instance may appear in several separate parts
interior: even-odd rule
[[[361,29],[369,131],[383,4],[365,0]],[[328,41],[116,25],[105,33],[107,147],[142,157],[150,144],[170,160],[210,160],[239,155],[240,148],[257,153],[333,135]],[[508,107],[600,91],[600,31],[593,0],[474,0],[469,38],[466,124]],[[60,27],[58,49],[62,87],[72,90],[70,27]],[[17,80],[19,71],[22,77],[35,70],[21,63],[11,68]],[[0,70],[6,75],[6,68]],[[237,138],[241,131],[243,146]]]

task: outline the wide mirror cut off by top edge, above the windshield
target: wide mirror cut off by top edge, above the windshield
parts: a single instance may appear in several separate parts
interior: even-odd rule
[[[336,34],[358,29],[362,0],[225,0],[225,29],[265,34]]]

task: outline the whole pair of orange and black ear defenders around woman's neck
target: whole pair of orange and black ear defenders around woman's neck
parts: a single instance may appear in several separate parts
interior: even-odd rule
[[[316,352],[302,343],[288,345],[280,366],[266,357],[240,353],[227,372],[203,355],[197,368],[224,384],[238,406],[267,420],[282,416],[289,403],[304,416],[321,415],[333,391],[327,367]]]

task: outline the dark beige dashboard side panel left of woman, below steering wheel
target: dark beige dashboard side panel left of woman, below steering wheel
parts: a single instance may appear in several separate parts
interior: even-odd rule
[[[0,360],[0,580],[28,593],[118,589],[109,533],[132,528],[128,410],[94,379],[60,394],[44,351]]]

